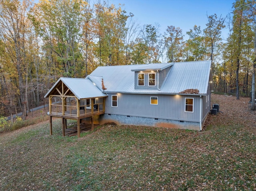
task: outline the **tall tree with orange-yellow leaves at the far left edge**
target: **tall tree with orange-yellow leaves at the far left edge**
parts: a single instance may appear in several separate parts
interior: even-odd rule
[[[29,1],[10,0],[0,1],[0,37],[9,53],[12,65],[15,66],[16,87],[19,89],[19,103],[22,108],[22,118],[26,119],[26,34],[29,33],[30,22],[27,13],[30,8]]]

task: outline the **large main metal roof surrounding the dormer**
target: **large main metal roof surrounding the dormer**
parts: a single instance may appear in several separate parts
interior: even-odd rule
[[[134,71],[161,71],[170,66],[160,90],[134,89]],[[198,89],[199,95],[206,95],[210,67],[211,61],[105,66],[95,69],[87,79],[101,88],[103,78],[106,93],[178,94],[186,89]]]

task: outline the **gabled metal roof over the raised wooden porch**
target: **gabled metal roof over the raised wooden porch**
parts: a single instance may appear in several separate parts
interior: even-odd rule
[[[54,86],[48,91],[44,98],[49,95],[58,95],[56,87],[61,85],[61,82],[66,85],[66,87],[78,98],[92,98],[92,97],[106,97],[107,95],[103,93],[90,79],[84,78],[60,78],[54,84]]]

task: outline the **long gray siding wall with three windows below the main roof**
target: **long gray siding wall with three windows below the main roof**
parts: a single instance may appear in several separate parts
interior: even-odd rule
[[[112,95],[118,96],[118,107],[112,107]],[[158,105],[150,104],[151,96],[158,97]],[[185,98],[194,98],[194,112],[185,112]],[[109,93],[105,108],[106,114],[192,122],[200,120],[200,96]]]

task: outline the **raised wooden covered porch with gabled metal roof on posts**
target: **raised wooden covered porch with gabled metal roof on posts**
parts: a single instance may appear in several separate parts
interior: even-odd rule
[[[67,119],[77,121],[77,135],[80,137],[82,118],[91,118],[94,129],[94,116],[104,114],[105,97],[89,79],[60,78],[45,95],[49,98],[50,135],[52,118],[62,118],[62,135],[65,136]]]

